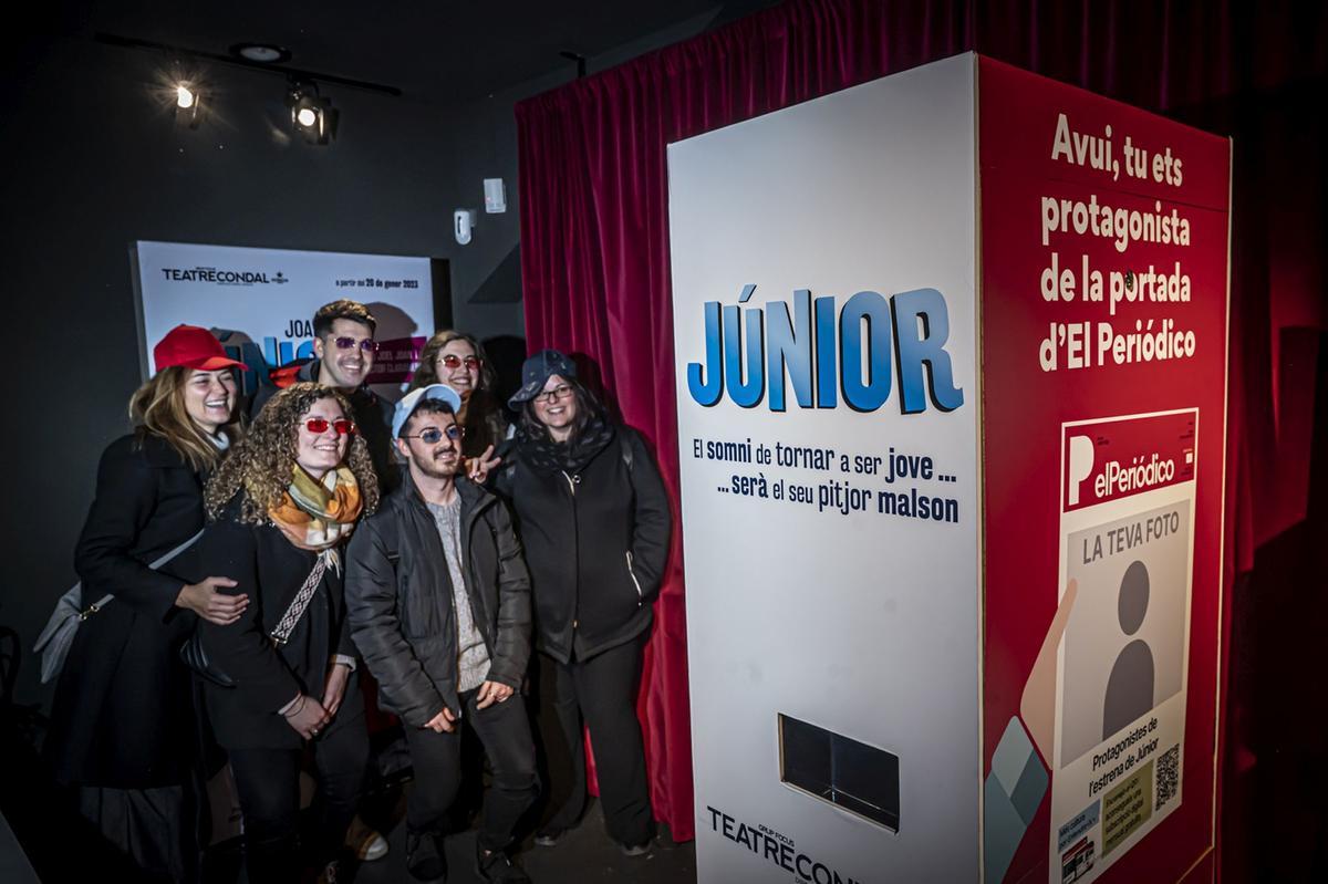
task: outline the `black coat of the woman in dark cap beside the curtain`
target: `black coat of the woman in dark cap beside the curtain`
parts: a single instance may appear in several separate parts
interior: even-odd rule
[[[572,475],[534,469],[521,445],[510,457],[498,490],[526,548],[535,646],[568,662],[645,632],[668,559],[669,510],[641,437],[618,427]]]

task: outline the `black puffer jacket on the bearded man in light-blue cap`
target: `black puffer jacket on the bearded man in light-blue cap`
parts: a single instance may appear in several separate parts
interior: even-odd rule
[[[351,634],[378,681],[380,705],[424,727],[457,698],[452,576],[433,515],[406,470],[401,487],[351,539],[345,597]],[[507,507],[458,478],[461,552],[489,681],[519,688],[530,661],[530,576]]]

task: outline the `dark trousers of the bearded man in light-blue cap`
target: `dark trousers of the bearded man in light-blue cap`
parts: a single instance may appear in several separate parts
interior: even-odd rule
[[[475,707],[478,690],[461,694],[462,715],[457,729],[440,734],[406,727],[410,763],[414,766],[414,788],[406,802],[406,826],[414,832],[442,828],[448,808],[461,788],[461,727],[469,725],[485,745],[493,784],[485,794],[485,818],[479,846],[494,851],[507,846],[513,830],[539,795],[535,774],[535,743],[530,719],[519,696],[487,709]]]

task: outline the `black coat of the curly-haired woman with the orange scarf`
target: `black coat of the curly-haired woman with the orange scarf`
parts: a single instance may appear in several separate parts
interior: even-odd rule
[[[291,544],[272,524],[240,524],[238,506],[207,527],[199,557],[208,573],[236,585],[230,595],[248,595],[248,607],[228,626],[199,621],[203,649],[234,688],[206,682],[207,713],[216,742],[226,749],[297,749],[303,738],[279,710],[299,694],[319,700],[335,654],[355,656],[345,629],[341,571],[328,567],[304,616],[282,648],[270,636],[313,569],[317,553]],[[344,550],[340,556],[344,568]],[[353,680],[333,723],[364,711]]]

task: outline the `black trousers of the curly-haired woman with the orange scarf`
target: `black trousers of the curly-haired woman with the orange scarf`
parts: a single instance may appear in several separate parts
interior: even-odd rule
[[[244,815],[244,855],[250,884],[287,884],[301,865],[336,857],[355,818],[369,761],[364,714],[337,721],[311,745],[319,794],[313,828],[296,849],[303,749],[230,749],[235,791]],[[303,861],[301,861],[303,860]]]

